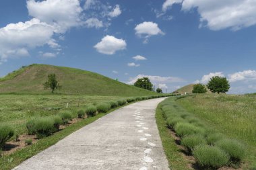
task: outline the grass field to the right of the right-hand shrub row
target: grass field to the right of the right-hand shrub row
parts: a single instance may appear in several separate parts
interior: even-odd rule
[[[188,112],[247,145],[245,169],[256,169],[256,95],[196,95],[177,100]],[[249,165],[247,166],[247,163]]]

